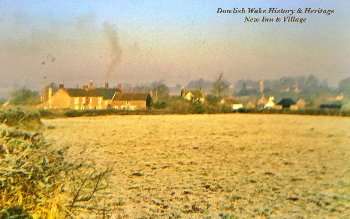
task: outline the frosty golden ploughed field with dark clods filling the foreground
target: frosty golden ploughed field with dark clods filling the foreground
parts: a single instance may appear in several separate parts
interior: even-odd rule
[[[125,115],[43,120],[68,159],[114,165],[123,218],[350,218],[350,118]],[[117,204],[116,204],[117,203]]]

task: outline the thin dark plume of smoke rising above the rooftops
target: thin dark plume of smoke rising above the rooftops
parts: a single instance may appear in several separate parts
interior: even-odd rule
[[[116,33],[116,27],[108,23],[104,23],[103,32],[106,35],[107,39],[110,41],[112,52],[112,60],[106,72],[106,81],[108,81],[111,79],[111,73],[113,72],[114,68],[120,62],[122,51],[119,44],[119,38]]]

